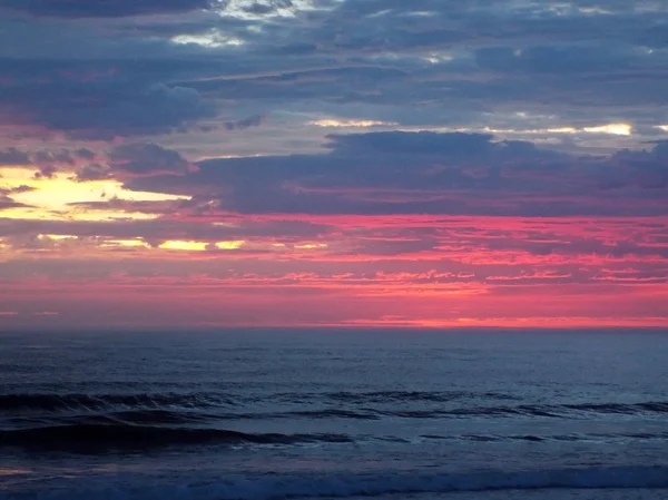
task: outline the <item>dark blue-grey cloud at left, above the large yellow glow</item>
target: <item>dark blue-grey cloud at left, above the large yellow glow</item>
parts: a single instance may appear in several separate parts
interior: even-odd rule
[[[132,50],[131,47],[128,48]],[[114,60],[42,61],[0,58],[0,125],[61,130],[72,139],[185,131],[218,112],[197,90],[160,81],[190,63]]]

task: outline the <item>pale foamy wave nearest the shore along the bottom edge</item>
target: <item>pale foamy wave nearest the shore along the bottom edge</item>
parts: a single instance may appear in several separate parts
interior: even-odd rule
[[[147,487],[81,484],[78,491],[52,490],[51,500],[79,498],[183,500],[281,500],[288,498],[350,498],[387,494],[448,493],[492,490],[667,489],[666,467],[611,467],[472,473],[381,473],[341,476],[256,476]],[[47,493],[45,493],[47,494]],[[0,498],[2,494],[0,493]],[[36,499],[40,499],[39,493]]]

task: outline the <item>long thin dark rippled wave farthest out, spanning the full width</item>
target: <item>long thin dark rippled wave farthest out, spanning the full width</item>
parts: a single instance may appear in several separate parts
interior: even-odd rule
[[[458,395],[459,394],[459,395]],[[469,394],[473,400],[472,394]],[[598,414],[651,415],[668,414],[668,402],[644,401],[637,403],[577,403],[577,404],[502,404],[502,405],[459,405],[452,403],[463,393],[432,392],[369,392],[369,393],[275,393],[257,394],[253,398],[230,393],[146,393],[146,394],[0,394],[0,415],[49,414],[111,414],[138,413],[138,418],[151,418],[148,411],[165,413],[165,419],[196,419],[215,415],[220,420],[276,420],[276,419],[354,419],[379,420],[382,418],[402,419],[458,419],[458,418],[587,418]],[[502,394],[484,393],[484,399],[503,399]],[[509,402],[510,396],[505,398]],[[302,405],[301,410],[252,411],[255,403],[262,405],[284,403]],[[426,408],[403,408],[402,403],[429,403]],[[448,404],[450,403],[450,404]],[[324,408],[307,408],[306,404]],[[341,408],[344,405],[345,408]],[[397,408],[399,406],[399,408]],[[181,415],[176,415],[181,412]],[[196,414],[199,413],[199,416]],[[135,415],[135,416],[137,416]],[[121,418],[121,420],[124,420]],[[130,419],[131,420],[131,419]]]

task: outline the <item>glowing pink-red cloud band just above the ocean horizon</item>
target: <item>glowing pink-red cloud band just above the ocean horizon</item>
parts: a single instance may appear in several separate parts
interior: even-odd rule
[[[204,314],[200,301],[219,302],[225,293],[234,311],[250,303],[266,313],[257,297],[275,305],[304,296],[315,301],[314,318],[322,320],[336,297],[338,305],[357,304],[354,315],[377,325],[369,308],[379,307],[379,317],[392,312],[424,320],[448,301],[455,320],[540,313],[563,321],[576,311],[592,325],[597,315],[654,317],[665,302],[666,217],[357,215],[320,217],[330,223],[320,226],[306,219],[0,219],[0,288],[12,291],[3,303],[23,311],[43,300],[51,307],[42,308],[53,310],[55,300],[85,300],[144,311],[141,297],[153,296],[171,311],[185,294],[197,297],[190,304]],[[540,311],[528,310],[537,295]],[[347,305],[341,307],[334,323],[347,317],[341,316]],[[286,318],[299,323],[293,313]]]

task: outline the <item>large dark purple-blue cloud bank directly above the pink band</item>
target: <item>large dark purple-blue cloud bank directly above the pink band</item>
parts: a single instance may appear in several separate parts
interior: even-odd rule
[[[631,171],[620,164],[625,154],[576,156],[462,133],[333,135],[330,140],[328,154],[212,159],[183,178],[138,178],[127,185],[206,193],[222,208],[245,214],[652,215],[668,207],[666,186],[641,183],[637,167]],[[633,155],[652,158],[658,168],[662,148]],[[616,175],[627,183],[605,188]]]

